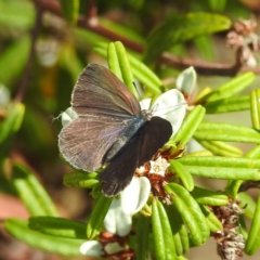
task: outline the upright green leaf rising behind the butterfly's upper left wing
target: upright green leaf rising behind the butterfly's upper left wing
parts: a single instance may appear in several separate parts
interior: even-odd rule
[[[133,76],[131,66],[128,61],[128,54],[121,42],[116,41],[108,44],[107,48],[107,62],[110,70],[119,76],[119,79],[128,87],[135,98],[139,98],[136,89],[133,84]]]

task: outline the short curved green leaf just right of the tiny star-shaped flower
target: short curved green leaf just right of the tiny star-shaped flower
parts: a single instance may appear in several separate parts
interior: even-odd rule
[[[169,171],[176,172],[181,179],[183,186],[191,192],[194,188],[193,177],[178,160],[170,160]]]

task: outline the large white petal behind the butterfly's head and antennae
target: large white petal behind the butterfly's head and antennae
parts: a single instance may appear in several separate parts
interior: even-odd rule
[[[158,96],[153,107],[156,108],[154,116],[165,118],[171,123],[174,135],[186,114],[186,102],[183,94],[176,89],[169,90]]]

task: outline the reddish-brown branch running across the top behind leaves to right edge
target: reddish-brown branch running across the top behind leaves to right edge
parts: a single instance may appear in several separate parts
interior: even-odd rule
[[[37,4],[41,5],[42,9],[49,11],[53,14],[62,16],[60,4],[57,1],[48,1],[48,0],[34,0]],[[89,3],[89,10],[87,16],[79,16],[77,25],[81,28],[91,30],[98,35],[101,35],[113,41],[121,41],[127,48],[132,51],[142,53],[144,51],[144,46],[136,43],[128,38],[115,34],[114,31],[103,27],[99,23],[99,18],[96,15],[96,5],[95,0],[91,0]],[[196,72],[200,75],[221,75],[221,76],[234,76],[238,72],[255,72],[256,74],[260,74],[260,68],[251,68],[248,66],[242,66],[240,62],[236,62],[234,64],[223,64],[223,63],[210,63],[204,61],[195,61],[192,58],[180,58],[174,56],[171,53],[164,52],[158,58],[159,63],[167,64],[168,66],[172,66],[174,68],[186,68],[188,66],[193,66]]]

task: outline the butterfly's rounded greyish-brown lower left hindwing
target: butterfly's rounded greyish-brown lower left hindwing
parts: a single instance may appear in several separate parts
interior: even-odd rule
[[[79,117],[58,134],[60,152],[77,169],[98,170],[125,127],[121,120],[110,117]]]

